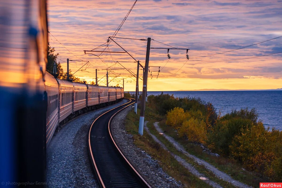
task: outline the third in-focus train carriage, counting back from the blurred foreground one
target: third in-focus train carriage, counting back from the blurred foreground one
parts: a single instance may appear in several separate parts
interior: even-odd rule
[[[74,85],[74,109],[77,110],[83,109],[86,107],[86,94],[87,86],[83,83],[72,83]]]

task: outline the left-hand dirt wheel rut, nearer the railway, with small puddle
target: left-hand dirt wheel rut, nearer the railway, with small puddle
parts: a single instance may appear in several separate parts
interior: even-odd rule
[[[153,135],[148,127],[147,127],[147,123],[148,121],[146,121],[144,123],[144,129],[148,132],[148,134],[158,143],[160,144],[160,146],[165,149],[166,151],[169,151],[168,148],[160,141],[158,140],[158,138]],[[169,151],[170,152],[170,151]],[[186,169],[188,169],[192,174],[194,174],[195,176],[197,176],[198,178],[200,178],[201,180],[203,180],[204,182],[208,183],[209,185],[211,185],[212,187],[215,188],[223,188],[221,187],[219,184],[209,180],[207,177],[204,176],[204,174],[201,174],[199,171],[197,171],[190,163],[187,163],[183,158],[181,158],[180,156],[174,154],[173,152],[170,152],[170,154],[179,162],[181,163]]]

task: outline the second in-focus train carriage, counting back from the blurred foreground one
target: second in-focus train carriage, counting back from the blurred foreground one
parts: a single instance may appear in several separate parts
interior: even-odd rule
[[[67,116],[73,113],[73,90],[74,86],[71,82],[57,79],[60,87],[59,102],[59,122],[63,121]]]

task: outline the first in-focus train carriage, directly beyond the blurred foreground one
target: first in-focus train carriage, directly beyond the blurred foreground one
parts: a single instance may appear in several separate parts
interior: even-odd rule
[[[45,91],[48,100],[46,113],[46,144],[48,146],[56,127],[59,125],[59,85],[48,72],[45,73]]]

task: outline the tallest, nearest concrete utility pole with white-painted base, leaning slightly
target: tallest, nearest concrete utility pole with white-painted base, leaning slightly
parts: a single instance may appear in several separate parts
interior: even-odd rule
[[[150,47],[151,47],[151,38],[148,37],[148,39],[147,39],[145,70],[144,70],[144,74],[143,74],[143,91],[142,91],[142,101],[141,101],[139,130],[138,130],[138,133],[140,135],[143,135],[143,129],[144,129],[144,117],[145,117],[145,104],[146,104],[146,95],[147,95],[147,80],[148,80]]]

